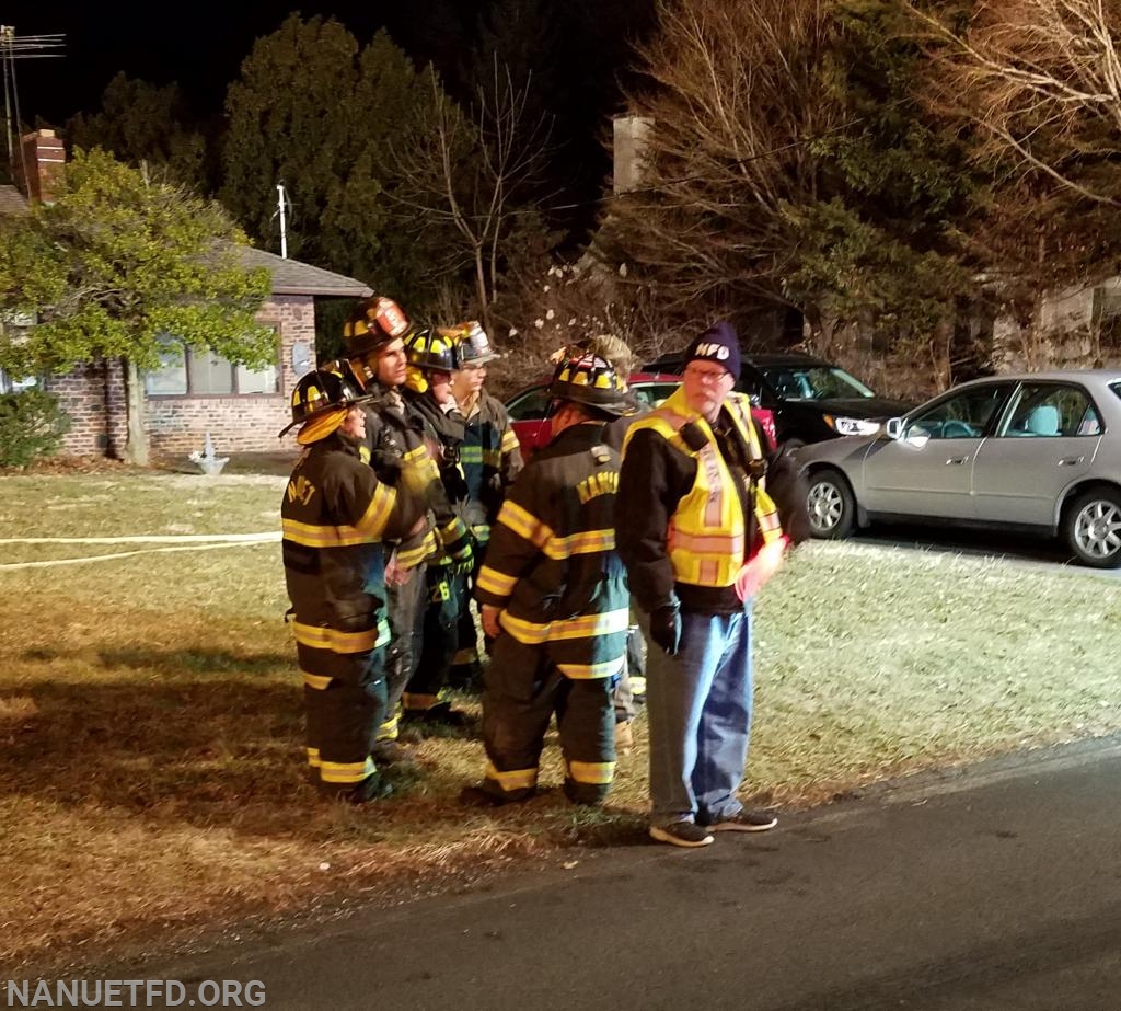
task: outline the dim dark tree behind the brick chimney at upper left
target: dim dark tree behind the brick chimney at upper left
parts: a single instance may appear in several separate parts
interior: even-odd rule
[[[72,148],[110,151],[129,165],[164,171],[169,180],[204,189],[206,143],[177,84],[160,88],[119,73],[105,88],[99,112],[80,112],[66,125]]]

